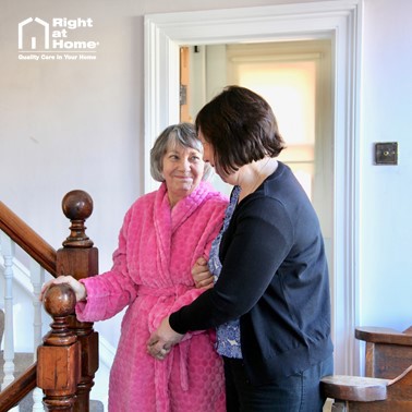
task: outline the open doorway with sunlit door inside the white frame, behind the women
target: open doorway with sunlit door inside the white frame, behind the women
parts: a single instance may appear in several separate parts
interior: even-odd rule
[[[180,120],[194,122],[222,87],[244,86],[271,106],[287,148],[279,160],[302,184],[320,220],[334,278],[334,108],[330,39],[182,46]],[[231,186],[215,177],[216,189]]]

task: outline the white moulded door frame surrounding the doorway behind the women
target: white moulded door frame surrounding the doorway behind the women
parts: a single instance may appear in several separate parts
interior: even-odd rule
[[[359,131],[363,0],[335,0],[145,16],[144,190],[156,189],[149,150],[179,122],[179,47],[329,37],[335,48],[334,343],[336,371],[358,374]]]

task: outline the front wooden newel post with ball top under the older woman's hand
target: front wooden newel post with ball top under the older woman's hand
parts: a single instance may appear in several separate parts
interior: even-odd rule
[[[44,346],[37,349],[37,386],[45,392],[48,411],[73,411],[81,380],[81,346],[68,318],[76,298],[68,284],[54,284],[46,292],[44,303],[53,323]]]

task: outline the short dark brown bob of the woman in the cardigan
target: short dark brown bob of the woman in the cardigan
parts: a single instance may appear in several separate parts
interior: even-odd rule
[[[284,148],[269,104],[245,87],[226,87],[202,108],[195,125],[214,147],[215,166],[228,174]]]

